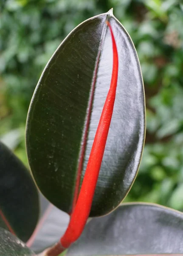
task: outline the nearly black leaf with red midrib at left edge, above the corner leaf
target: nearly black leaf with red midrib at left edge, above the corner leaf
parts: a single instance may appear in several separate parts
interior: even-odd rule
[[[0,227],[27,241],[39,216],[37,188],[23,163],[0,143]]]

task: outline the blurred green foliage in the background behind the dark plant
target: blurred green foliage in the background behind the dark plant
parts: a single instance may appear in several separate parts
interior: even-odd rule
[[[125,201],[183,210],[183,4],[178,0],[2,0],[0,137],[27,165],[26,115],[45,64],[75,26],[112,7],[137,49],[146,93],[146,145]]]

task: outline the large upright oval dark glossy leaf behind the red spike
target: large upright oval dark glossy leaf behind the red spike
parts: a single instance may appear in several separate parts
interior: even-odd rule
[[[110,212],[125,197],[141,160],[144,88],[137,53],[108,12],[76,27],[48,62],[28,112],[28,159],[39,189],[70,213],[79,193],[113,65],[108,20],[118,49],[114,111],[90,216]]]

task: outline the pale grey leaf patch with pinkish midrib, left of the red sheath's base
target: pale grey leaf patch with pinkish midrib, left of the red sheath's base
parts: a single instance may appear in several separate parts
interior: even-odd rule
[[[68,214],[54,207],[43,197],[41,197],[41,205],[44,211],[33,235],[27,242],[27,246],[35,253],[40,253],[58,242],[69,222]]]

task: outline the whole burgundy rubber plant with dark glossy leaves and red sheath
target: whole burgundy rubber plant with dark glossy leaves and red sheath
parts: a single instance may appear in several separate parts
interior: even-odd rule
[[[181,212],[121,204],[144,139],[138,56],[110,10],[70,32],[39,79],[26,124],[32,176],[0,144],[0,255],[183,253]]]

